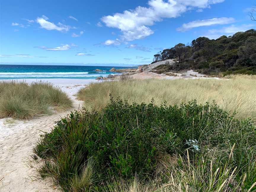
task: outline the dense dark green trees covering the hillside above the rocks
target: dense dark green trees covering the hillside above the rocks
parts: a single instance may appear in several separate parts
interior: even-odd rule
[[[154,55],[153,63],[174,58],[177,62],[171,66],[172,71],[193,69],[206,74],[256,74],[256,30],[216,40],[199,37],[188,45],[179,43]]]

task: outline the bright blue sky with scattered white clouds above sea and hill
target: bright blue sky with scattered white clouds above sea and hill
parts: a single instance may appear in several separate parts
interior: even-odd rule
[[[0,62],[135,65],[199,36],[255,28],[255,0],[0,2]]]

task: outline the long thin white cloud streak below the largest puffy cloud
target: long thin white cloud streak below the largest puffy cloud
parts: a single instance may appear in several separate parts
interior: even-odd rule
[[[191,21],[189,23],[184,23],[182,27],[177,28],[177,31],[188,31],[192,28],[210,26],[210,25],[224,25],[235,22],[235,19],[232,17],[220,17],[204,20]]]

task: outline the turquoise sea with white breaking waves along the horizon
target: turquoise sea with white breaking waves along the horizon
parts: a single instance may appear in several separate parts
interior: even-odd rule
[[[111,68],[111,66],[0,65],[0,79],[95,79],[98,76],[117,74],[109,72]]]

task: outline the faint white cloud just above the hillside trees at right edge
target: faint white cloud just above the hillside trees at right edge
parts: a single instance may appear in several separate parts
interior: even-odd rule
[[[254,24],[244,24],[244,25],[230,25],[228,27],[223,27],[220,29],[211,29],[208,31],[208,33],[205,35],[205,37],[208,37],[209,39],[217,39],[220,36],[226,35],[230,36],[233,35],[236,32],[239,31],[247,31],[251,28],[254,28]]]

